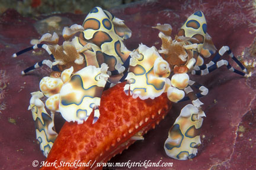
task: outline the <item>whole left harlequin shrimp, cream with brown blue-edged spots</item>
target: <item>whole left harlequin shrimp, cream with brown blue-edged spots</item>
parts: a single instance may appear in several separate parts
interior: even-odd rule
[[[79,37],[76,37],[79,32]],[[97,122],[102,91],[119,80],[123,81],[129,67],[131,51],[124,46],[123,40],[132,33],[121,19],[108,11],[99,7],[92,9],[82,25],[65,27],[62,35],[65,39],[62,45],[57,44],[59,36],[55,32],[53,35],[47,33],[40,38],[39,44],[12,55],[17,57],[27,51],[43,48],[53,60],[40,61],[21,72],[25,75],[43,65],[53,70],[50,76],[40,81],[41,91],[31,93],[29,107],[45,156],[57,136],[53,126],[54,113],[62,113],[68,122],[82,123],[94,110],[93,123]],[[52,116],[44,109],[44,103],[40,100],[43,96],[47,97],[45,106]],[[44,127],[48,124],[52,126],[51,129]]]

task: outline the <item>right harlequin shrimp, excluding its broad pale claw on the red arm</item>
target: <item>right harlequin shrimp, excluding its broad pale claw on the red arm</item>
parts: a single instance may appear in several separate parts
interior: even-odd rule
[[[180,116],[169,130],[164,149],[171,158],[190,159],[196,156],[197,148],[201,144],[200,128],[203,123],[202,117],[205,116],[203,110],[201,110],[203,103],[198,98],[205,96],[208,89],[190,80],[188,73],[203,76],[225,65],[234,73],[248,77],[247,70],[232,54],[228,46],[220,48],[208,64],[203,64],[203,57],[210,57],[217,49],[213,45],[212,38],[206,32],[206,19],[201,11],[197,11],[188,17],[180,31],[178,31],[175,40],[170,37],[171,25],[158,24],[153,28],[160,31],[159,38],[162,40],[162,47],[159,53],[168,61],[174,71],[174,75],[171,77],[171,86],[177,87],[179,91],[184,90],[187,94],[187,98],[181,97],[178,100],[181,101],[183,98],[183,100],[190,99],[192,102],[181,110]],[[233,68],[227,60],[219,60],[225,53],[229,54],[242,71]],[[184,84],[180,84],[180,82],[184,82]],[[191,87],[201,92],[196,94]],[[168,89],[168,93],[173,93],[172,91],[174,90]],[[183,91],[180,93],[183,93]],[[172,99],[171,101],[177,102],[178,100]]]

